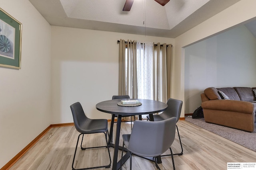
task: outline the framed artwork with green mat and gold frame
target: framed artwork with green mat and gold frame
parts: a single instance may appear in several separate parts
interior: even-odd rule
[[[20,69],[22,24],[0,8],[0,67]]]

